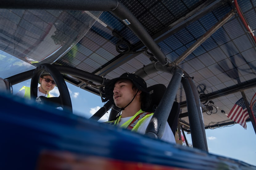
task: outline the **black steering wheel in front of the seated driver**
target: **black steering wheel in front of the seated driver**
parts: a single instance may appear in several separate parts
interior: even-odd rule
[[[51,101],[51,98],[54,99],[52,101],[58,101],[60,103],[61,107],[64,111],[71,112],[72,113],[72,103],[70,99],[70,95],[68,92],[68,87],[64,81],[64,78],[53,65],[44,63],[36,67],[36,69],[33,72],[32,78],[31,78],[31,85],[30,85],[30,96],[31,99],[35,99],[37,97],[37,87],[38,87],[38,80],[40,78],[40,75],[43,71],[47,71],[51,74],[52,78],[56,82],[56,85],[58,85],[58,89],[60,92],[59,97],[50,97],[45,98],[44,100]]]

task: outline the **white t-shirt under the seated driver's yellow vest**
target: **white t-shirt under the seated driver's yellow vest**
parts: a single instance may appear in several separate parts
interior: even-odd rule
[[[150,117],[147,117],[142,124],[138,127],[138,130],[136,132],[141,133],[141,134],[145,134],[146,129],[147,129],[147,125],[149,124],[151,118],[153,115],[151,115]],[[118,127],[121,126],[122,124],[124,124],[126,121],[128,121],[131,117],[125,117],[122,118],[118,124]],[[161,140],[169,142],[169,143],[173,143],[176,144],[175,142],[175,137],[173,135],[173,132],[171,131],[171,128],[169,126],[169,124],[166,122],[165,128],[164,128],[164,132],[163,132],[163,136],[161,137]]]

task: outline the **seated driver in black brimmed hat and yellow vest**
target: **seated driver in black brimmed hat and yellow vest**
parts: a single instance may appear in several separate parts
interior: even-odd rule
[[[145,134],[153,115],[143,111],[150,101],[146,82],[136,74],[124,73],[105,86],[105,93],[122,110],[116,120],[107,123]],[[167,122],[161,139],[175,143],[175,137]]]

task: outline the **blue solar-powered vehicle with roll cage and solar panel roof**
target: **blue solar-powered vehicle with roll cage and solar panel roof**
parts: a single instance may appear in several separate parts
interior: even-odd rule
[[[255,127],[254,1],[12,0],[0,10],[1,169],[256,169],[208,153],[206,128],[234,124],[240,99]],[[59,97],[39,97],[40,74]],[[157,121],[145,135],[97,120],[116,108],[104,86],[144,78]],[[31,100],[12,85],[31,78]],[[73,114],[65,82],[102,98],[91,118]],[[56,106],[63,110],[56,109]],[[168,121],[192,147],[159,140]],[[152,135],[154,134],[154,135]],[[123,145],[125,144],[125,147]]]

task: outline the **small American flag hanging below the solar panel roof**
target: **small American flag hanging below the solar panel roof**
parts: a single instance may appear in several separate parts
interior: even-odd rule
[[[228,118],[232,121],[240,124],[246,129],[246,119],[249,118],[249,114],[246,109],[245,101],[243,98],[239,99],[228,114]]]

